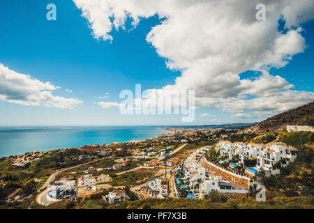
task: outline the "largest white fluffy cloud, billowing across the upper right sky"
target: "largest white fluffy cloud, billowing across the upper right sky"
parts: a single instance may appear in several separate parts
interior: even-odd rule
[[[314,17],[313,0],[73,0],[90,23],[95,38],[110,40],[112,29],[124,29],[128,18],[158,15],[163,22],[147,33],[147,42],[167,59],[167,67],[181,70],[175,84],[155,91],[195,90],[197,107],[227,112],[282,112],[314,100],[312,92],[292,91],[284,77],[270,75],[295,54],[304,52],[301,24]],[[255,19],[257,3],[264,3],[267,19]],[[285,20],[285,33],[278,20]],[[241,79],[247,70],[260,72]],[[253,99],[247,100],[251,95]]]

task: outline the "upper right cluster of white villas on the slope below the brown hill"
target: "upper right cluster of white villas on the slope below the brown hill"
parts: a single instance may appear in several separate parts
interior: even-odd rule
[[[239,162],[244,163],[246,159],[256,159],[257,165],[254,169],[260,171],[264,169],[267,174],[278,174],[279,169],[273,169],[273,165],[281,159],[293,162],[297,157],[297,149],[286,148],[278,144],[243,144],[241,142],[232,143],[230,141],[220,141],[216,146],[216,151],[220,155],[225,155],[231,160],[235,155],[239,155]],[[255,171],[246,169],[249,175],[255,175]]]

